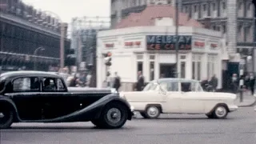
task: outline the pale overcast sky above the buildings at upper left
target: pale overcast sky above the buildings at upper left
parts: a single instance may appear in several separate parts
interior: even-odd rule
[[[62,22],[74,17],[110,17],[110,0],[22,0],[36,9],[57,14]]]

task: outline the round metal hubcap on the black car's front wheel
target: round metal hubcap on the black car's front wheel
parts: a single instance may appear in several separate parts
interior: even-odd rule
[[[122,119],[121,111],[118,110],[117,108],[111,108],[110,110],[107,111],[106,118],[109,122],[116,124],[120,122]]]

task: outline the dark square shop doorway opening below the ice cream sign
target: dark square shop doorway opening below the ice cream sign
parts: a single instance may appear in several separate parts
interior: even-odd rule
[[[159,78],[175,78],[175,64],[160,64]]]

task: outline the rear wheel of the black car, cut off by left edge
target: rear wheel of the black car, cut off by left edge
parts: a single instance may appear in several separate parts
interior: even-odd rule
[[[10,128],[14,122],[14,112],[0,107],[0,129]]]

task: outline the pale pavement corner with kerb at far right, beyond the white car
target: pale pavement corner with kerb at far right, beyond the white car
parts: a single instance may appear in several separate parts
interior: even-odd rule
[[[240,102],[240,94],[237,94],[237,99],[234,102],[239,107],[254,106],[256,104],[256,97],[246,91],[243,94],[243,100]]]

